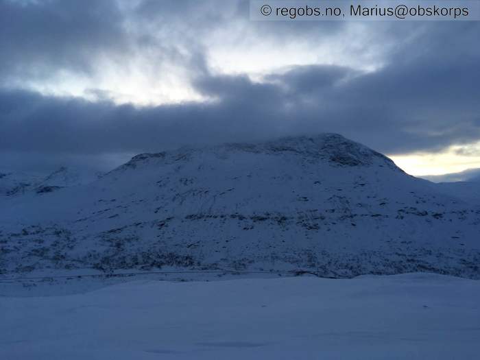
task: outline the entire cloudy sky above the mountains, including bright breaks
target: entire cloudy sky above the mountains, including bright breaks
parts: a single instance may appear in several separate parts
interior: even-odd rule
[[[4,167],[339,132],[480,167],[480,22],[250,21],[248,1],[0,0]]]

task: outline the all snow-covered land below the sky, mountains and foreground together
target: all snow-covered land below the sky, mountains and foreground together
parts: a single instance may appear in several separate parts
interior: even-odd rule
[[[470,184],[337,134],[70,173],[0,174],[0,359],[479,358]]]

